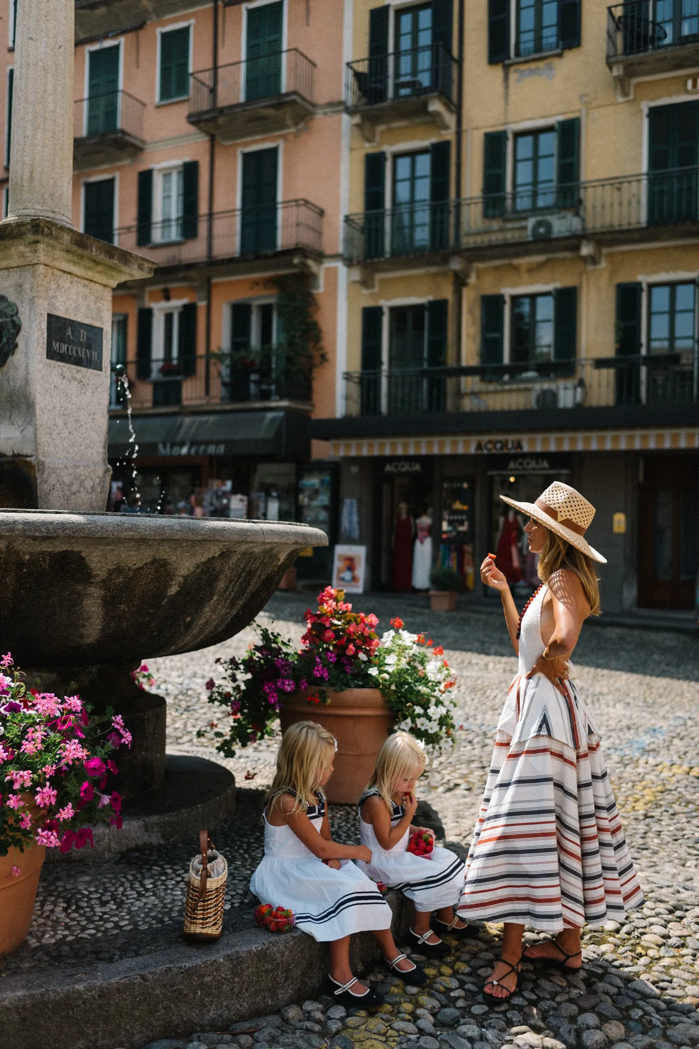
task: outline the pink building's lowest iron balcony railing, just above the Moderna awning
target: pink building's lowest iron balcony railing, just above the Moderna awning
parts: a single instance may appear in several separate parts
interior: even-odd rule
[[[311,383],[299,366],[279,349],[271,365],[260,366],[255,350],[249,360],[240,354],[214,354],[184,361],[153,358],[129,361],[112,369],[110,408],[126,409],[125,377],[131,407],[167,408],[182,404],[256,404],[277,401],[308,403]]]

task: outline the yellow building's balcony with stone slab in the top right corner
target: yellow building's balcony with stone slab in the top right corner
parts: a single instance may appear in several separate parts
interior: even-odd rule
[[[699,65],[699,10],[687,0],[631,0],[607,8],[607,65],[624,83]]]

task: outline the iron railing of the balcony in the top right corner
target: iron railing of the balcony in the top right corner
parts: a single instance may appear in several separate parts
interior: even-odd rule
[[[699,42],[699,8],[687,0],[630,0],[607,8],[607,62]]]

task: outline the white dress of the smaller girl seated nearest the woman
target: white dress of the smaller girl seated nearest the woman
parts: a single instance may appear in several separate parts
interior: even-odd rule
[[[463,860],[449,849],[435,848],[429,856],[416,856],[408,852],[410,828],[392,849],[381,849],[371,823],[362,818],[362,806],[368,797],[380,797],[372,788],[359,798],[359,838],[362,844],[371,849],[371,863],[357,861],[357,866],[373,881],[398,890],[415,904],[421,913],[439,911],[458,902],[463,889]],[[405,814],[405,808],[391,799],[391,826],[395,826]]]

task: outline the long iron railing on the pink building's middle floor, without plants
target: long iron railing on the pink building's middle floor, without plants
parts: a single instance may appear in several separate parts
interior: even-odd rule
[[[309,200],[284,200],[209,215],[162,219],[123,227],[114,243],[170,266],[209,259],[256,258],[302,250],[323,253],[323,209]]]

